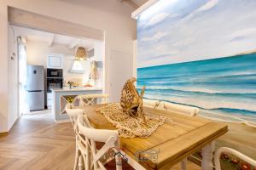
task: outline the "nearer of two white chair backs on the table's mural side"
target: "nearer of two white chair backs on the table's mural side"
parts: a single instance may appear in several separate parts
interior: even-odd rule
[[[188,105],[178,105],[170,102],[161,101],[157,109],[164,111],[173,111],[183,115],[196,116],[199,113],[199,108],[188,106]]]

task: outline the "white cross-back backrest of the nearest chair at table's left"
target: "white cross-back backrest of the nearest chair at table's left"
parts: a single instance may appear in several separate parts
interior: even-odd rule
[[[95,129],[91,127],[90,122],[86,115],[78,117],[78,127],[79,127],[79,138],[80,143],[83,148],[89,148],[92,154],[94,169],[106,169],[101,161],[102,156],[106,155],[108,151],[119,150],[119,133],[116,130],[106,130],[106,129]],[[84,138],[81,138],[83,136]],[[96,142],[105,143],[100,150],[96,150]],[[116,164],[116,168],[120,169],[121,165]]]

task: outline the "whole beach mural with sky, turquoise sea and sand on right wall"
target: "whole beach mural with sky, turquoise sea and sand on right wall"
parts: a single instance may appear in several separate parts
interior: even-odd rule
[[[137,88],[227,123],[217,147],[256,160],[255,9],[255,0],[154,3],[137,18]]]

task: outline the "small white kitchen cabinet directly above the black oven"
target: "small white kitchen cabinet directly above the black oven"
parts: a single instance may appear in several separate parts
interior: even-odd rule
[[[63,54],[48,54],[47,68],[62,69]]]

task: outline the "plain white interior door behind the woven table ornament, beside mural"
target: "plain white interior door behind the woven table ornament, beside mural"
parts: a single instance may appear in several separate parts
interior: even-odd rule
[[[109,101],[119,102],[121,90],[131,78],[131,54],[117,50],[110,50],[109,57]]]

